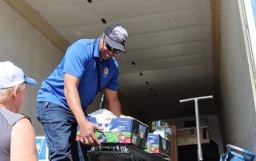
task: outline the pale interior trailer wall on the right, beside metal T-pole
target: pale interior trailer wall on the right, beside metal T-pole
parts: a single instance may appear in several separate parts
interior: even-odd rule
[[[240,0],[221,0],[221,117],[224,143],[256,153],[254,80],[239,13]]]

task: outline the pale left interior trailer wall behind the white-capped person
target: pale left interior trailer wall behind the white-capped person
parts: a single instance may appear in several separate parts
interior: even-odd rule
[[[0,1],[0,61],[13,61],[26,76],[38,81],[30,85],[22,112],[32,116],[37,135],[43,135],[41,124],[34,116],[38,88],[44,78],[62,59],[63,52],[17,14],[4,1]],[[0,69],[1,70],[1,69]]]

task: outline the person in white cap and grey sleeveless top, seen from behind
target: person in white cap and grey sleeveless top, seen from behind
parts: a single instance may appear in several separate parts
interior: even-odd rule
[[[26,84],[37,84],[10,61],[0,62],[0,160],[38,161],[30,117],[21,114]]]

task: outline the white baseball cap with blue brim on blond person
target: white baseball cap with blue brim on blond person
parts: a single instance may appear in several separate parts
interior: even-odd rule
[[[12,62],[0,62],[0,89],[14,87],[24,81],[27,84],[38,84],[34,79],[26,77],[22,69]]]

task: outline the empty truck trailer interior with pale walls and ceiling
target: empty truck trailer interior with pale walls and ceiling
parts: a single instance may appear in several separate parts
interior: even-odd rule
[[[124,115],[150,127],[154,120],[174,125],[177,160],[197,160],[193,137],[178,135],[187,129],[194,134],[194,102],[180,100],[213,96],[198,100],[200,129],[208,139],[202,143],[206,160],[218,160],[228,143],[256,153],[256,44],[246,14],[250,1],[3,0],[0,61],[14,61],[38,80],[28,88],[23,109],[32,116],[36,134],[44,135],[34,116],[40,83],[71,43],[97,38],[107,26],[121,24],[129,33],[127,53],[116,56]],[[99,101],[98,96],[89,113]]]

